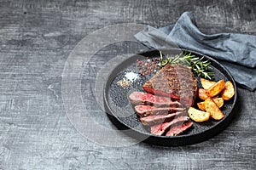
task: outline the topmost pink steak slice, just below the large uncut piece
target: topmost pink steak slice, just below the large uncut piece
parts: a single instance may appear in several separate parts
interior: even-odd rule
[[[170,98],[155,96],[153,94],[146,94],[143,92],[133,92],[129,95],[131,104],[133,105],[154,105],[154,106],[175,106],[181,104],[177,101],[172,101]]]

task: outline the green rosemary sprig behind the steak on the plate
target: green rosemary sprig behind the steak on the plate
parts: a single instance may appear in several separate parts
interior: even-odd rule
[[[160,52],[159,66],[161,68],[167,64],[187,65],[198,77],[204,77],[211,80],[214,76],[214,72],[208,71],[208,68],[211,68],[211,62],[209,61],[209,59],[207,60],[203,60],[203,59],[204,59],[203,56],[199,58],[191,53],[189,54],[181,53],[174,56],[167,55],[166,58],[163,59],[163,55]]]

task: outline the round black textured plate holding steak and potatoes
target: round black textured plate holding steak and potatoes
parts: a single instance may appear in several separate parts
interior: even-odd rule
[[[180,52],[181,49],[168,50],[168,54],[179,54]],[[195,52],[191,53],[199,57],[204,56],[204,59],[209,59],[211,61],[212,71],[215,73],[213,81],[224,79],[226,82],[229,80],[234,84],[236,89],[234,79],[224,66],[206,55]],[[237,92],[232,99],[224,101],[224,106],[221,109],[224,113],[224,119],[220,121],[210,120],[201,123],[194,122],[192,128],[178,136],[166,137],[151,134],[148,127],[143,126],[143,124],[138,121],[137,114],[133,110],[133,106],[131,105],[128,96],[134,91],[143,91],[143,83],[153,75],[147,77],[140,76],[137,69],[137,59],[151,59],[159,56],[160,53],[158,50],[150,50],[142,54],[136,54],[121,61],[119,65],[111,71],[108,76],[108,81],[105,84],[104,106],[108,112],[108,117],[113,124],[119,129],[131,129],[124,132],[139,141],[166,146],[195,144],[220,133],[232,118],[233,114],[231,114],[231,111],[236,104]],[[123,88],[119,86],[117,82],[122,80],[128,72],[137,74],[138,78],[136,80],[134,79],[128,88]],[[200,82],[198,84],[201,86]]]

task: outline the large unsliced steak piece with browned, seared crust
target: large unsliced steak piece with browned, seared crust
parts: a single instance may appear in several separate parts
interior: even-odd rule
[[[149,94],[169,97],[191,106],[197,94],[197,81],[189,67],[165,65],[143,84],[143,89]]]

